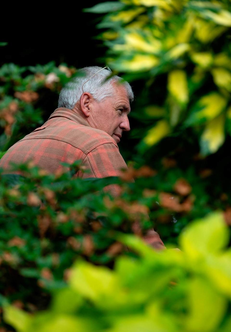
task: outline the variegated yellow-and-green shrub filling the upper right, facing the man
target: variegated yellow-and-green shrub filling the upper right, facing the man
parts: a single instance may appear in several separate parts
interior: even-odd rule
[[[131,82],[126,160],[158,172],[172,194],[185,179],[195,195],[188,214],[156,216],[166,238],[190,220],[222,208],[230,215],[231,3],[228,0],[122,0],[87,9],[102,13],[105,62]]]

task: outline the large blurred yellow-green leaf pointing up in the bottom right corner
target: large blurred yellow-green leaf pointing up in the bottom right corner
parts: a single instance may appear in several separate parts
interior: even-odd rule
[[[216,331],[223,318],[227,300],[207,280],[194,278],[189,283],[187,331]]]

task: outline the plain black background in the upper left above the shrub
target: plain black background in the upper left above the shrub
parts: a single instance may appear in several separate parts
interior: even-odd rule
[[[102,58],[106,48],[102,41],[95,37],[100,30],[96,29],[102,15],[83,12],[83,8],[90,8],[101,1],[87,1],[86,5],[75,5],[77,17],[66,20],[66,29],[70,32],[59,35],[56,22],[56,32],[47,30],[41,32],[38,38],[18,38],[9,41],[7,46],[1,47],[0,65],[13,62],[22,66],[33,66],[55,61],[56,65],[65,62],[68,66],[81,68],[92,65],[103,65],[98,58]],[[61,25],[65,20],[60,22]],[[103,60],[102,60],[103,61]]]

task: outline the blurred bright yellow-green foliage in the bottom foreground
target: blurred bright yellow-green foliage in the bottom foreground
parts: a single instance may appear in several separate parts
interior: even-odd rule
[[[228,233],[220,213],[187,227],[182,251],[157,253],[117,233],[139,257],[118,258],[114,271],[78,260],[50,309],[30,315],[6,304],[4,319],[18,332],[230,331]]]

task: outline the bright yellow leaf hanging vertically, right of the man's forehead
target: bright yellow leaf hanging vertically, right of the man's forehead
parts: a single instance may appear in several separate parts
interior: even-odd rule
[[[188,83],[184,70],[173,70],[168,74],[168,91],[179,103],[188,102]]]

